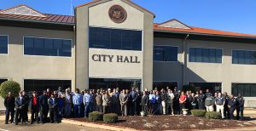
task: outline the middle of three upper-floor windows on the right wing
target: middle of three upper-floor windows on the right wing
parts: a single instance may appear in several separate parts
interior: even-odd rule
[[[189,48],[189,62],[222,63],[222,49]]]

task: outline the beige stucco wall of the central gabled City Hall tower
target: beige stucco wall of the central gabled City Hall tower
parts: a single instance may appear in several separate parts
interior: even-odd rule
[[[127,19],[121,23],[114,23],[108,17],[108,9],[114,4],[119,4],[127,12]],[[76,9],[76,35],[77,35],[77,60],[76,60],[76,78],[77,88],[89,88],[89,77],[109,77],[109,78],[142,78],[143,87],[152,86],[153,80],[153,14],[149,14],[143,9],[123,0],[102,0],[91,3]],[[98,49],[89,53],[88,28],[89,26],[118,28],[126,30],[143,31],[143,51],[117,51]],[[119,64],[96,64],[90,63],[91,54],[137,54],[140,57],[140,65],[127,66],[124,63]],[[104,71],[102,71],[102,66]],[[111,67],[110,67],[111,66]],[[108,68],[109,67],[109,68]],[[127,72],[137,71],[137,72]],[[88,70],[89,69],[89,70]],[[118,71],[113,71],[118,69]],[[123,76],[121,76],[123,73]]]

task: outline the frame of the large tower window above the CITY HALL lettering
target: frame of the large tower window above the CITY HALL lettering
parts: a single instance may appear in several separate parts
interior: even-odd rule
[[[104,28],[104,29],[113,29],[113,30],[126,30],[126,31],[141,31],[142,32],[142,49],[141,50],[127,50],[127,49],[114,49],[114,48],[100,48],[100,49],[108,49],[108,50],[122,50],[122,51],[137,51],[143,52],[144,49],[144,31],[140,29],[128,29],[128,28],[118,28],[118,27],[106,27],[106,26],[89,26],[88,28],[88,49],[90,48],[90,27],[92,28]],[[132,43],[131,43],[132,44]]]

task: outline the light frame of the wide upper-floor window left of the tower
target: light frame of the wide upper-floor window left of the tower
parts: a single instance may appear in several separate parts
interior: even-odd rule
[[[44,39],[52,39],[52,40],[67,40],[71,41],[71,56],[50,56],[50,55],[35,55],[35,54],[25,54],[25,37],[23,36],[23,55],[25,56],[31,56],[31,57],[57,57],[57,58],[73,58],[73,39],[68,39],[68,38],[56,38],[56,37],[32,37],[32,38],[44,38]],[[54,45],[53,45],[54,46]]]

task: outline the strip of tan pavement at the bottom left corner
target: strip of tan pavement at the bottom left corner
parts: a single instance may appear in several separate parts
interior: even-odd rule
[[[4,124],[0,121],[0,131],[105,131],[100,128],[88,128],[67,123],[44,123],[44,124]]]

